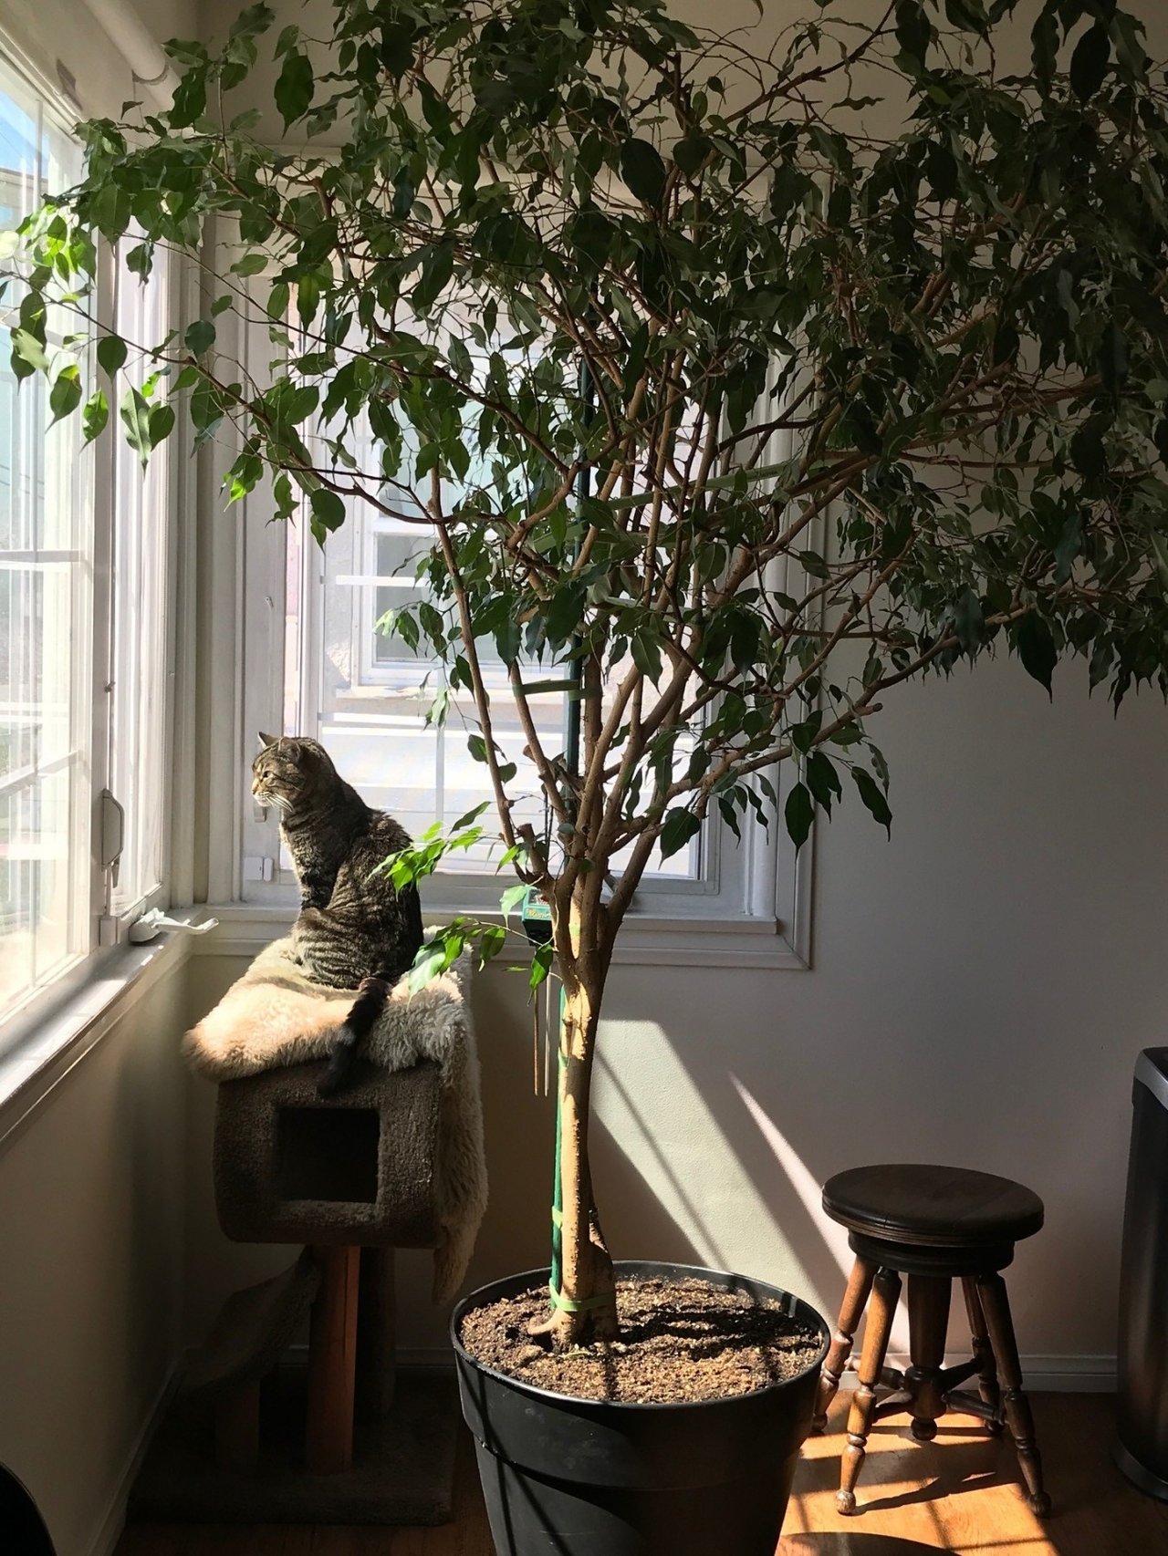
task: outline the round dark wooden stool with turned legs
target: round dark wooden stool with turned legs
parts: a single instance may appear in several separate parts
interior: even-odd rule
[[[824,1184],[824,1209],[849,1229],[855,1265],[839,1309],[839,1327],[827,1352],[813,1430],[827,1410],[852,1352],[852,1335],[869,1305],[860,1354],[858,1388],[847,1418],[847,1449],[839,1470],[839,1512],[855,1512],[855,1483],[864,1463],[872,1422],[908,1411],[913,1436],[936,1436],[947,1410],[978,1416],[992,1433],[1009,1425],[1031,1509],[1050,1514],[1042,1460],[1034,1441],[1029,1400],[1000,1271],[1014,1259],[1014,1243],[1042,1226],[1042,1200],[1009,1178],[962,1167],[853,1167]],[[900,1276],[908,1276],[911,1366],[885,1366]],[[973,1337],[973,1357],[942,1366],[950,1282],[959,1279]],[[978,1396],[959,1388],[976,1374]],[[998,1376],[1001,1386],[998,1386]],[[877,1396],[881,1383],[892,1393]]]

